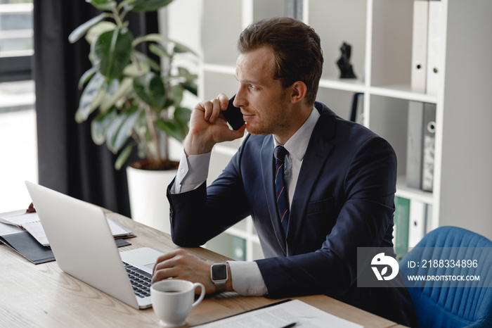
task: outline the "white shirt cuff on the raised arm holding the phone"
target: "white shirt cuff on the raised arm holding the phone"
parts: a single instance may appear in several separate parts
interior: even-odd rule
[[[200,187],[207,181],[209,173],[210,153],[186,156],[183,151],[179,161],[178,173],[171,187],[171,194],[181,194]]]

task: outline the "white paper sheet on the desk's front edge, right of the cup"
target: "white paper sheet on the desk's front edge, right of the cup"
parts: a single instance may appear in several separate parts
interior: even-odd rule
[[[290,324],[295,324],[290,326]],[[254,327],[254,328],[362,328],[363,326],[344,320],[335,315],[330,315],[323,310],[315,308],[303,301],[294,300],[278,305],[248,311],[233,317],[209,322],[195,327],[226,328],[226,327]]]

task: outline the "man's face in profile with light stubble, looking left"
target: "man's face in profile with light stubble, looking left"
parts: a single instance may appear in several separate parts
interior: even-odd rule
[[[264,46],[242,53],[235,75],[240,86],[234,106],[241,108],[247,131],[251,134],[282,136],[290,130],[289,92],[280,80],[273,80],[273,53]]]

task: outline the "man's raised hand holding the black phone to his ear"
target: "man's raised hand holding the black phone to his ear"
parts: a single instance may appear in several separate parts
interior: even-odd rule
[[[215,144],[232,141],[244,135],[246,125],[237,131],[231,130],[221,115],[221,110],[226,110],[228,101],[225,94],[219,94],[216,99],[202,101],[195,106],[190,118],[190,132],[184,143],[186,155],[209,153]]]

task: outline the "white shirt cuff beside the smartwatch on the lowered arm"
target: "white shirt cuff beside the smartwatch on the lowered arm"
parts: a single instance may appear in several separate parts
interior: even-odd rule
[[[268,293],[256,262],[227,261],[231,267],[233,289],[241,296],[264,296]]]

